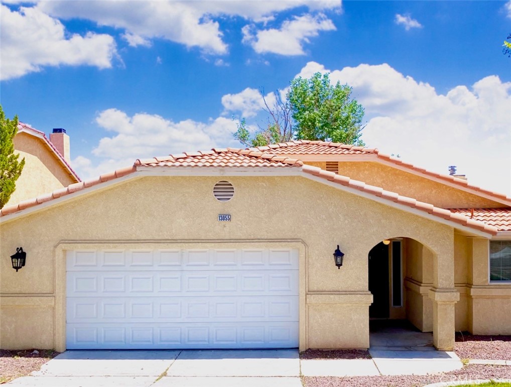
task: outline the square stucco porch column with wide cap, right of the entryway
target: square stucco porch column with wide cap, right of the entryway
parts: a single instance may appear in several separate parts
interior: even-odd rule
[[[456,289],[429,290],[433,300],[433,345],[439,351],[454,350],[454,304],[459,301]]]

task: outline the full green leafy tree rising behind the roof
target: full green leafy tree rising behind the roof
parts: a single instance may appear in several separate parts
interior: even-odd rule
[[[296,138],[364,145],[360,140],[364,108],[351,93],[347,84],[332,85],[328,73],[293,79],[288,98]]]

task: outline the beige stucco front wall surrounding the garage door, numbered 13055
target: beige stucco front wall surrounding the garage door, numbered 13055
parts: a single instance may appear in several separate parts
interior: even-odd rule
[[[235,187],[228,202],[213,197],[220,179]],[[232,221],[218,222],[220,213]],[[15,272],[0,260],[0,346],[64,349],[69,246],[216,241],[303,244],[300,349],[366,348],[370,249],[397,236],[424,243],[442,257],[432,265],[433,286],[449,289],[453,234],[450,226],[304,177],[135,177],[2,224],[2,251],[24,247],[27,265]],[[346,254],[340,270],[332,258],[337,244]]]

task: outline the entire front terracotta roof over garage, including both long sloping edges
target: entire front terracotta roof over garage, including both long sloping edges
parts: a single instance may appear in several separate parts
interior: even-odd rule
[[[351,192],[361,192],[366,197],[372,197],[375,200],[386,202],[387,204],[397,203],[400,205],[400,208],[418,210],[419,213],[424,213],[424,216],[426,216],[425,214],[427,213],[432,215],[433,218],[445,219],[455,224],[468,227],[469,229],[478,230],[490,235],[495,235],[499,231],[497,227],[486,224],[482,221],[471,219],[456,212],[437,208],[433,206],[433,204],[401,196],[397,193],[386,191],[383,188],[365,184],[362,181],[353,180],[349,177],[341,176],[310,165],[304,165],[303,162],[294,158],[271,155],[250,149],[234,148],[213,149],[206,152],[182,153],[165,157],[155,157],[149,160],[136,160],[132,167],[118,169],[117,171],[101,175],[99,178],[93,180],[82,181],[47,195],[25,200],[18,204],[13,204],[12,206],[6,206],[0,211],[0,215],[6,216],[15,214],[25,209],[39,206],[44,202],[49,202],[65,195],[71,195],[90,187],[99,186],[107,181],[124,177],[137,171],[142,173],[143,171],[152,168],[182,169],[188,167],[192,170],[207,170],[211,168],[230,168],[233,170],[247,167],[265,167],[268,169],[275,168],[286,170],[295,169],[304,177],[309,177],[337,188],[344,187],[346,190]]]

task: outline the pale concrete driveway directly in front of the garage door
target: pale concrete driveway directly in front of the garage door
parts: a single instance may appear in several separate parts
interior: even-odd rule
[[[67,351],[17,387],[301,387],[297,350]]]

